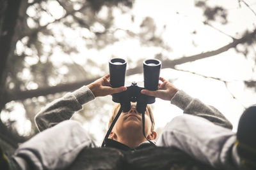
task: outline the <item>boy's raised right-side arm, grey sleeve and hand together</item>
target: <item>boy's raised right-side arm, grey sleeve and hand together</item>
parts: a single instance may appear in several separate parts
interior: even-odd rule
[[[159,78],[159,80],[161,80],[163,83],[159,83],[158,90],[141,90],[141,93],[171,101],[172,104],[175,104],[180,109],[182,109],[183,113],[203,117],[213,122],[214,124],[232,129],[232,124],[216,108],[202,103],[202,101],[199,99],[195,99],[189,96],[182,90],[174,87],[172,83],[166,81],[164,78]]]

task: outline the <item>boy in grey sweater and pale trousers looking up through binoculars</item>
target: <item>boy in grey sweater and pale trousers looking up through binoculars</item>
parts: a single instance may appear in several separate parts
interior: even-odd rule
[[[88,86],[66,94],[61,99],[47,105],[36,115],[36,125],[42,132],[22,144],[13,155],[21,169],[65,168],[76,159],[77,154],[83,148],[95,147],[92,139],[81,125],[68,119],[75,111],[81,110],[83,104],[92,101],[95,97],[126,90],[125,87],[116,89],[109,87],[108,78],[109,74]],[[142,90],[141,93],[171,101],[172,104],[184,110],[184,115],[173,118],[166,125],[163,134],[157,141],[157,146],[179,148],[191,157],[217,168],[237,169],[243,168],[243,164],[253,166],[250,162],[248,163],[252,157],[245,159],[242,157],[243,161],[240,160],[241,155],[246,156],[250,150],[255,148],[255,142],[252,142],[254,145],[251,145],[244,140],[246,138],[239,139],[239,134],[243,134],[244,128],[240,129],[241,132],[238,129],[236,136],[230,130],[232,129],[230,122],[216,108],[207,106],[198,99],[193,99],[164,78],[159,78],[159,80],[162,81],[159,90],[154,92]],[[118,108],[118,106],[116,107]],[[255,110],[252,108],[249,112],[255,113]],[[115,114],[116,111],[114,111],[113,117]],[[244,122],[247,124],[247,115],[243,121],[240,121],[243,123],[242,125]],[[255,117],[253,118],[255,120]],[[111,120],[113,121],[113,118]],[[154,127],[154,118],[150,113],[150,108],[147,107],[145,134],[150,140],[156,139],[156,132],[152,127]],[[241,127],[240,123],[239,127]],[[134,104],[127,113],[122,113],[118,118],[109,135],[107,146],[122,150],[137,150],[150,146],[142,134],[141,114],[136,111]]]

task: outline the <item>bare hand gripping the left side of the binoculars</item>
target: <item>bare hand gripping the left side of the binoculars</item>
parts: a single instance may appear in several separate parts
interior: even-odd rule
[[[90,85],[87,85],[87,87],[90,90],[92,90],[93,95],[95,97],[107,96],[109,94],[119,93],[127,90],[126,87],[118,87],[118,88],[110,87],[110,80],[108,80],[109,76],[110,75],[107,74],[106,76],[99,78],[93,83],[90,83]]]

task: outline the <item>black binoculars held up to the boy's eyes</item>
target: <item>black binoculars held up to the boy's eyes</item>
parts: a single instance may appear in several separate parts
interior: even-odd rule
[[[109,74],[111,87],[122,87],[125,84],[125,72],[127,62],[124,59],[111,59],[109,61]],[[139,113],[144,113],[147,104],[152,104],[156,101],[154,96],[146,96],[141,94],[141,90],[157,90],[159,85],[159,74],[161,69],[161,61],[157,59],[148,59],[143,61],[143,76],[144,87],[138,87],[136,82],[132,82],[127,90],[117,94],[112,94],[112,101],[120,103],[123,106],[123,111],[127,112],[131,109],[131,102],[137,102],[136,110]]]

